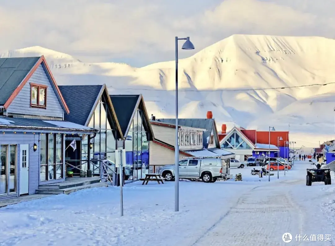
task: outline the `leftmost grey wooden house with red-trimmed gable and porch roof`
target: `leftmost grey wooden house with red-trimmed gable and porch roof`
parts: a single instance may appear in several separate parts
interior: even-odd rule
[[[0,58],[0,199],[65,181],[67,136],[97,132],[69,112],[44,56]]]

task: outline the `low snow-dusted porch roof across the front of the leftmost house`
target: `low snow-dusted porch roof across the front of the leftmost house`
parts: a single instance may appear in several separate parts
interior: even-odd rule
[[[57,120],[40,120],[40,119],[29,119],[29,118],[16,118],[0,116],[0,129],[55,129],[63,131],[91,131],[96,132],[97,130],[90,127],[82,126],[76,123],[68,121],[57,121]]]

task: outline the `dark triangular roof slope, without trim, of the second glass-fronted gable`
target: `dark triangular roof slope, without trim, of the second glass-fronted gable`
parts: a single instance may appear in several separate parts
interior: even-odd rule
[[[110,95],[116,117],[118,118],[123,136],[132,120],[132,115],[141,95]]]

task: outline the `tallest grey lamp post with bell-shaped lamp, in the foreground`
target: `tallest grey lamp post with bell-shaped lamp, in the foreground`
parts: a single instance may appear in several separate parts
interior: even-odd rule
[[[194,49],[190,37],[175,38],[176,45],[176,144],[175,144],[175,211],[179,211],[179,142],[178,142],[178,40],[186,40],[182,49]]]

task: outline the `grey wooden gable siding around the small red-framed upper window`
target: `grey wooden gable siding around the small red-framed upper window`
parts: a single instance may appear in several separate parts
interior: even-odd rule
[[[46,109],[30,107],[30,83],[45,85],[48,87],[46,93]],[[18,93],[12,103],[8,106],[6,113],[8,115],[23,114],[64,119],[64,110],[51,83],[52,82],[50,82],[41,64],[27,81],[27,83],[23,86],[22,90]]]

